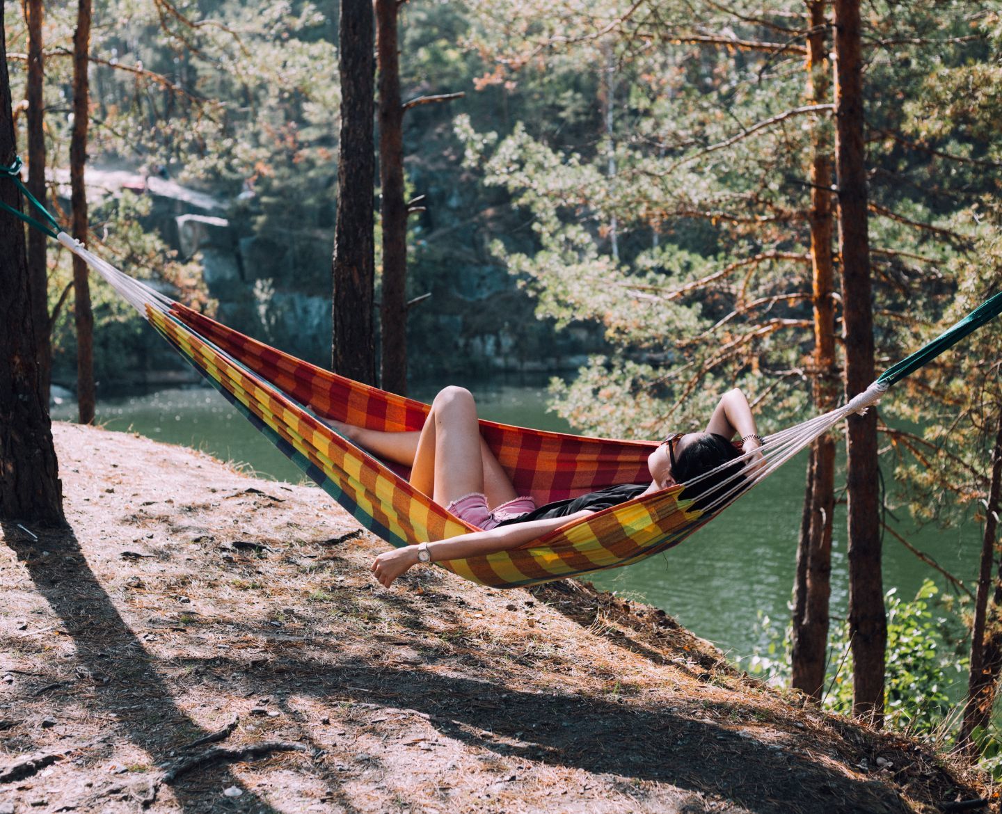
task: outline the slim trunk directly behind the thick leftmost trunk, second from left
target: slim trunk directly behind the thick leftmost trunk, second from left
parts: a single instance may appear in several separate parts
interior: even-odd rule
[[[42,0],[28,0],[25,5],[28,24],[28,189],[45,206],[45,79],[42,56]],[[38,353],[38,386],[44,404],[49,403],[52,377],[52,343],[49,331],[48,236],[37,229],[28,230],[28,275],[31,277],[32,313]]]

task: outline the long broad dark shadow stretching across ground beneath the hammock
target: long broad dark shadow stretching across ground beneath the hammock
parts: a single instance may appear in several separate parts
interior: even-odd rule
[[[850,767],[838,756],[821,760],[793,744],[765,742],[719,721],[693,717],[691,703],[684,712],[642,708],[615,700],[512,691],[489,681],[362,661],[332,664],[287,657],[281,676],[239,664],[216,663],[213,669],[227,675],[242,670],[236,681],[245,682],[248,691],[267,694],[295,687],[297,693],[332,703],[376,701],[415,710],[427,715],[442,735],[499,756],[670,784],[757,814],[912,811],[887,783],[849,776],[845,769]],[[741,717],[742,708],[734,705],[732,712]],[[745,711],[743,719],[754,717]]]

